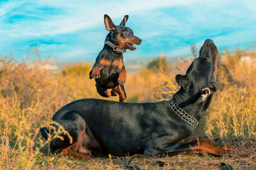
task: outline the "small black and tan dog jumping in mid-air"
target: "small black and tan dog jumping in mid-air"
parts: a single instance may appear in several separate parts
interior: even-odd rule
[[[119,95],[119,101],[126,98],[124,83],[127,71],[124,68],[123,55],[127,49],[136,50],[136,45],[142,43],[142,39],[134,36],[133,31],[125,26],[128,16],[124,16],[120,26],[114,26],[111,18],[104,16],[107,34],[105,45],[96,58],[96,62],[90,71],[90,79],[96,81],[98,94],[103,97]]]

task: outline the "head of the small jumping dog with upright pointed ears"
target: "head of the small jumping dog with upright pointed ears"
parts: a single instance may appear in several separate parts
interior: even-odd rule
[[[137,47],[135,45],[140,45],[142,39],[137,38],[133,31],[126,27],[129,16],[124,16],[122,22],[119,26],[114,26],[110,16],[105,14],[104,23],[106,30],[109,30],[110,33],[107,35],[106,40],[110,40],[112,43],[117,45],[120,49],[129,49],[135,50]],[[135,44],[135,45],[134,45]]]

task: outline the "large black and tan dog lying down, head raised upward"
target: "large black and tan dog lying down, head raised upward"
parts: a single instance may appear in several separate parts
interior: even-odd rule
[[[216,91],[218,50],[213,40],[206,40],[199,57],[186,74],[176,75],[181,89],[169,101],[159,103],[119,103],[86,98],[61,108],[53,120],[68,135],[50,142],[53,153],[79,154],[91,158],[93,151],[124,156],[125,154],[193,154],[223,155],[230,149],[213,147],[211,140],[184,140],[190,137],[198,120],[210,105]],[[53,125],[58,129],[58,125]],[[41,128],[48,139],[53,129]]]

